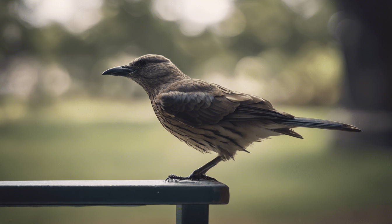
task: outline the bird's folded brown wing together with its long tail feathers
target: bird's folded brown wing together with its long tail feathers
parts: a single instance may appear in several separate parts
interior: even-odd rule
[[[192,127],[225,121],[269,120],[269,122],[283,126],[270,130],[297,138],[302,138],[302,136],[289,127],[361,131],[354,126],[337,122],[296,118],[288,113],[277,111],[270,102],[263,98],[231,91],[198,79],[175,82],[158,94],[154,101],[154,109],[160,110],[166,114],[166,117],[174,117]]]

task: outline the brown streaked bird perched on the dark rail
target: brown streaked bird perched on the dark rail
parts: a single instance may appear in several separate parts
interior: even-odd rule
[[[102,75],[124,76],[143,87],[162,126],[188,146],[217,157],[188,177],[169,175],[166,181],[214,180],[206,172],[237,151],[270,136],[303,138],[295,127],[361,132],[358,127],[316,118],[294,117],[276,110],[258,96],[191,78],[162,55],[143,55]]]

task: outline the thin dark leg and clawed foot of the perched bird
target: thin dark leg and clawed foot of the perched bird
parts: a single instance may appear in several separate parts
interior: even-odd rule
[[[215,178],[209,177],[207,175],[205,175],[205,173],[207,171],[209,171],[209,169],[211,169],[212,167],[214,167],[216,164],[218,164],[220,161],[222,161],[223,158],[220,156],[217,156],[216,158],[214,158],[213,160],[211,160],[210,162],[207,162],[206,164],[204,164],[203,166],[195,169],[191,175],[189,175],[188,177],[180,177],[174,174],[169,175],[169,177],[166,178],[165,181],[170,181],[170,180],[216,180]]]

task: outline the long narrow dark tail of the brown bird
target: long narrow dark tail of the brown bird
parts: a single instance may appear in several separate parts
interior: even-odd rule
[[[276,123],[285,124],[291,127],[312,127],[312,128],[353,131],[353,132],[362,131],[358,127],[349,124],[343,124],[330,120],[321,120],[321,119],[307,118],[307,117],[287,118],[284,120],[276,121]]]

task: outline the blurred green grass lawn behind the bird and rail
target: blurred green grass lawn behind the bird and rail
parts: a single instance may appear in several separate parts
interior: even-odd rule
[[[164,179],[215,156],[165,131],[148,102],[66,101],[19,117],[1,109],[0,180]],[[278,109],[316,118],[328,112]],[[332,149],[334,131],[297,131],[304,140],[273,137],[209,171],[230,187],[228,205],[210,206],[211,223],[282,223],[390,204],[389,155]],[[174,223],[174,214],[174,206],[0,208],[0,224]]]

